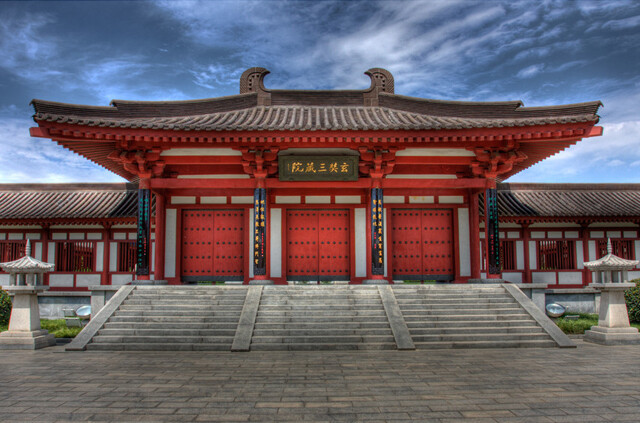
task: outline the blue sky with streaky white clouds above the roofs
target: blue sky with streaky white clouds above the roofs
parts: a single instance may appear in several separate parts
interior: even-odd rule
[[[32,98],[106,106],[268,88],[363,89],[526,106],[601,100],[605,135],[509,182],[640,182],[638,1],[0,2],[0,182],[122,179],[29,137]]]

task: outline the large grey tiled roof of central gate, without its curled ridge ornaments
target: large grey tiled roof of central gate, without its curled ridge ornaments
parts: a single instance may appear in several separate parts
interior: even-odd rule
[[[597,122],[600,102],[522,107],[519,101],[459,102],[379,93],[365,106],[360,91],[270,91],[178,102],[114,100],[94,107],[33,100],[38,122],[90,127],[202,131],[430,130]]]

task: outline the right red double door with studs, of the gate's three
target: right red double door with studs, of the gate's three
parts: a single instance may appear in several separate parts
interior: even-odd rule
[[[391,262],[394,279],[453,280],[453,211],[392,209]]]

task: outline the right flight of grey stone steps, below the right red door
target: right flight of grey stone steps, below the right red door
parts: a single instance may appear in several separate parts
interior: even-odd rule
[[[555,347],[500,285],[414,285],[394,289],[416,348]]]

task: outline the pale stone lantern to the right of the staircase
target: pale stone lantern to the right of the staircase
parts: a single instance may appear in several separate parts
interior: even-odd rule
[[[624,291],[634,287],[628,283],[629,269],[638,266],[638,260],[625,260],[614,256],[611,240],[607,242],[607,255],[584,263],[584,267],[596,272],[596,282],[589,285],[601,292],[600,318],[597,326],[585,331],[584,340],[603,345],[640,343],[638,329],[629,324]]]

